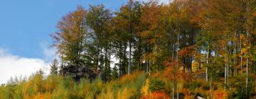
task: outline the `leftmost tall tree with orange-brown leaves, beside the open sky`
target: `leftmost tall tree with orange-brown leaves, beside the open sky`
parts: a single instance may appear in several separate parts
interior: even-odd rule
[[[82,54],[85,52],[87,26],[85,15],[87,11],[78,6],[76,11],[63,16],[58,23],[58,32],[53,33],[53,46],[57,47],[60,58],[65,64],[84,64]]]

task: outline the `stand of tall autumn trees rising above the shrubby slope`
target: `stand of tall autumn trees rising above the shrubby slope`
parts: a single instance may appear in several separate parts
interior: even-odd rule
[[[78,6],[59,21],[53,45],[64,66],[85,65],[109,80],[114,57],[119,77],[165,69],[173,96],[181,79],[204,74],[210,92],[223,82],[245,98],[255,92],[255,6],[254,0],[130,0],[119,11]]]

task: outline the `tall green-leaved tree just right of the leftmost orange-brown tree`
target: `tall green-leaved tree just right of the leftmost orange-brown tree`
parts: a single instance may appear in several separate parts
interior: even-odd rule
[[[92,45],[95,47],[96,54],[95,69],[105,72],[105,76],[110,77],[110,57],[112,33],[110,30],[112,13],[103,5],[90,6],[86,16],[87,25],[89,25],[92,36]]]

